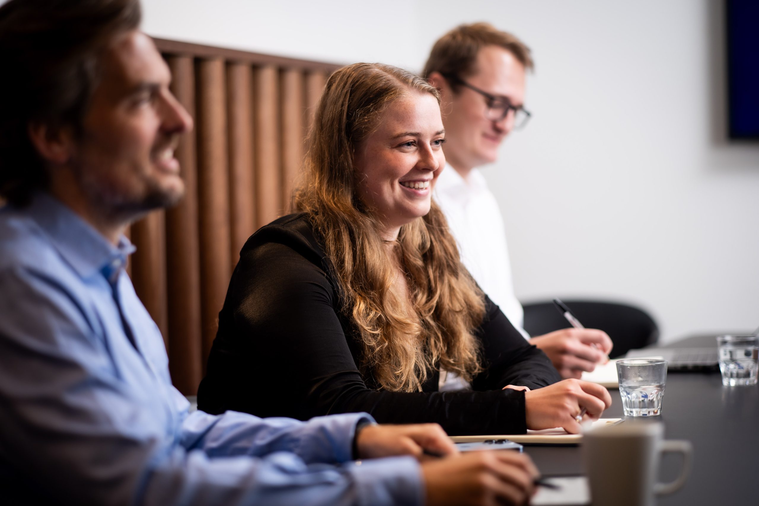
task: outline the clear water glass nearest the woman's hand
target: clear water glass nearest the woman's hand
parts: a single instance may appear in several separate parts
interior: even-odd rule
[[[666,360],[617,360],[619,394],[625,416],[658,416],[662,413]]]

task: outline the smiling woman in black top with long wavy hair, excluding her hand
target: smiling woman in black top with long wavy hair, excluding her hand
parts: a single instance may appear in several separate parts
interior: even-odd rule
[[[332,74],[300,212],[243,248],[200,409],[524,432],[524,391],[502,388],[559,376],[461,266],[431,199],[444,136],[438,93],[419,77],[380,64]],[[474,391],[439,392],[441,370]]]

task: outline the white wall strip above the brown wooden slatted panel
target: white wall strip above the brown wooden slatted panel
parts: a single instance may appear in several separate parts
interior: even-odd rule
[[[417,2],[142,0],[143,30],[165,39],[335,63],[419,65]]]

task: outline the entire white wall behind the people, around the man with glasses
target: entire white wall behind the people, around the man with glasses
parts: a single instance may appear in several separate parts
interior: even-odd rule
[[[518,296],[628,300],[665,340],[759,325],[759,143],[725,140],[721,2],[143,5],[155,36],[412,70],[461,22],[512,31],[537,62],[534,118],[484,173]]]

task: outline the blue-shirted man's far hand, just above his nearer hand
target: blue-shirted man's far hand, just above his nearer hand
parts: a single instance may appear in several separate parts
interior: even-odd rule
[[[427,454],[458,454],[456,445],[436,423],[414,425],[368,425],[356,435],[358,458],[412,455],[419,460]]]

